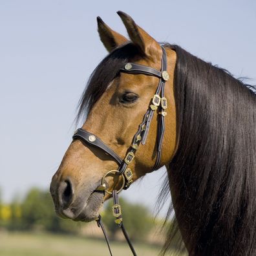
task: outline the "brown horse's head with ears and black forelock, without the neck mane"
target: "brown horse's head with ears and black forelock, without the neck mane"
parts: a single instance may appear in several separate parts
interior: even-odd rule
[[[159,158],[157,167],[162,167],[170,162],[175,152],[176,114],[173,74],[176,54],[171,49],[164,49],[167,65],[164,71],[165,76],[166,74],[168,76],[168,79],[165,78],[166,81],[152,74],[147,75],[146,72],[145,74],[136,70],[129,72],[129,65],[133,63],[135,68],[136,65],[144,69],[149,67],[149,70],[156,74],[159,72],[162,76],[160,70],[163,48],[136,25],[130,16],[123,12],[118,12],[118,15],[127,28],[131,41],[114,32],[98,17],[100,39],[109,51],[109,55],[92,73],[80,100],[79,113],[81,116],[87,114],[80,133],[82,136],[83,131],[87,131],[88,143],[85,142],[87,138],[83,140],[77,136],[67,149],[58,171],[52,178],[50,191],[56,212],[61,217],[86,222],[95,220],[100,214],[104,200],[110,197],[111,192],[104,193],[99,191],[98,187],[102,185],[102,177],[109,171],[118,170],[121,163],[102,150],[102,147],[109,148],[114,152],[113,154],[124,160],[133,147],[132,155],[128,155],[133,158],[133,153],[136,151],[133,161],[129,161],[133,182],[153,170],[156,158]],[[158,109],[160,102],[156,102],[156,106],[153,107],[155,109],[151,109],[161,79],[165,82],[166,98],[162,97],[166,104],[162,109],[165,110],[164,112]],[[157,100],[160,101],[161,98],[155,98],[155,101]],[[156,114],[153,115],[154,112]],[[165,119],[165,133],[161,132],[164,136],[160,149],[162,154],[159,157],[158,119],[161,114]],[[149,116],[150,129],[147,127],[145,131]],[[145,120],[144,126],[141,125],[143,120]],[[136,133],[137,131],[139,133]],[[147,140],[144,145],[138,147],[145,132]],[[135,139],[134,134],[136,134]],[[93,145],[95,140],[102,142],[103,146],[95,147]],[[125,169],[127,164],[123,171]],[[107,184],[107,191],[123,187],[122,176],[115,175],[114,171],[105,176],[104,182]]]

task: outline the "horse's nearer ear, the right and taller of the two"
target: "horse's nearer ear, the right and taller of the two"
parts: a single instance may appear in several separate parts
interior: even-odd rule
[[[117,14],[121,17],[131,41],[133,41],[134,45],[136,45],[145,56],[155,58],[162,53],[161,47],[156,40],[149,36],[145,30],[136,25],[128,14],[121,11],[118,11]]]

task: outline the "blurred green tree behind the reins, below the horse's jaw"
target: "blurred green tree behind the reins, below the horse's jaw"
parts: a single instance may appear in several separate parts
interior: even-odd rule
[[[103,215],[103,222],[109,229],[111,238],[114,239],[119,228],[114,222],[112,205],[112,200],[109,200]],[[129,233],[129,237],[134,240],[145,240],[153,227],[153,217],[149,209],[141,204],[131,204],[123,198],[120,198],[120,205],[122,208],[123,224]]]

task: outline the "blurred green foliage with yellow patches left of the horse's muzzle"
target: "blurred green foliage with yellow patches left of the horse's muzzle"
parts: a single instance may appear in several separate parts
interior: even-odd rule
[[[32,188],[22,202],[17,198],[10,205],[1,205],[0,224],[11,230],[42,229],[45,231],[77,233],[78,224],[63,220],[54,212],[48,191]]]

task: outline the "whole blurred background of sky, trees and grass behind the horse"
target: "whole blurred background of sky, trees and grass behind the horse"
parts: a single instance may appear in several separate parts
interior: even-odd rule
[[[48,187],[76,129],[73,121],[86,81],[107,54],[96,17],[127,36],[118,10],[157,41],[176,43],[256,83],[253,0],[1,0],[0,255],[108,253],[96,223],[56,217]],[[162,168],[121,193],[138,255],[157,255],[165,239],[160,227],[171,198],[155,217],[164,176]],[[128,255],[109,208],[107,203],[103,219],[114,254]]]

